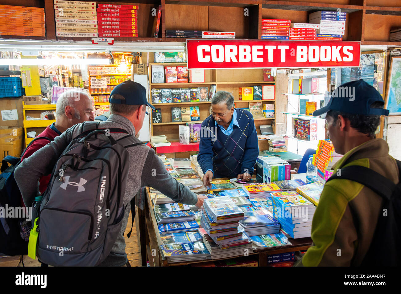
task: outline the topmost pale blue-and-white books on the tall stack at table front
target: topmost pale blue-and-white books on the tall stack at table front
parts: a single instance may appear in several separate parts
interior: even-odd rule
[[[238,221],[244,213],[229,196],[205,199],[203,207],[217,224]]]

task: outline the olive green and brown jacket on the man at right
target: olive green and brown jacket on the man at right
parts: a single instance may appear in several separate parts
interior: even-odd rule
[[[383,139],[373,139],[348,151],[334,173],[349,165],[373,169],[394,183],[397,163]],[[312,220],[313,244],[296,266],[360,266],[375,232],[382,198],[368,187],[347,179],[324,185]]]

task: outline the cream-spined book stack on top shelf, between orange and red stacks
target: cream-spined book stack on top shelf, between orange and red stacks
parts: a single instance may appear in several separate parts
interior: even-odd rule
[[[54,0],[54,10],[56,36],[97,37],[96,2]]]

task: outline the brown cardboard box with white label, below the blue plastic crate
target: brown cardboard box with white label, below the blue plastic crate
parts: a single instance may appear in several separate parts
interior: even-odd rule
[[[22,97],[0,99],[0,126],[20,127],[24,123]]]

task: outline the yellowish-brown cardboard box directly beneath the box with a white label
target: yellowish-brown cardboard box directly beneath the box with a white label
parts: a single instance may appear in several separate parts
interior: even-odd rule
[[[7,155],[19,157],[24,150],[24,129],[2,127],[0,129],[0,157]]]

